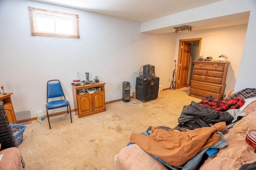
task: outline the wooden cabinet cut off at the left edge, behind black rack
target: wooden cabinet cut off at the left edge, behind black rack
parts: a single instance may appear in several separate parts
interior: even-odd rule
[[[16,117],[14,113],[14,109],[12,107],[12,100],[11,100],[11,95],[13,93],[6,93],[3,95],[3,93],[0,94],[0,102],[4,102],[4,109],[6,111],[7,119],[9,123],[14,123],[16,124]]]

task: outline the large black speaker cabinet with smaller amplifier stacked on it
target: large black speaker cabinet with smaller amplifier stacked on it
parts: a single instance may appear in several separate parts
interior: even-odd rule
[[[136,78],[136,99],[142,102],[155,100],[158,98],[159,77]]]

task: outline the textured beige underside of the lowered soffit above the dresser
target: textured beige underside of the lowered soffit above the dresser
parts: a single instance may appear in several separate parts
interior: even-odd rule
[[[228,15],[228,16],[211,18],[211,19],[207,19],[207,20],[184,23],[184,24],[180,24],[180,25],[172,25],[172,26],[165,27],[165,28],[145,31],[144,33],[149,33],[149,34],[171,33],[171,32],[175,32],[174,27],[179,27],[182,25],[191,26],[192,31],[229,27],[229,26],[235,26],[235,25],[244,25],[244,24],[248,24],[249,16],[250,16],[250,12],[242,12],[242,13],[238,13],[238,14],[232,14],[232,15]],[[180,31],[179,33],[182,33],[182,32],[186,32],[186,31]]]

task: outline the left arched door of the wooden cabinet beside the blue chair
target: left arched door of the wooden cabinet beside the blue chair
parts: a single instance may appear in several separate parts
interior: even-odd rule
[[[78,108],[80,108],[80,114],[92,111],[92,98],[90,94],[83,94],[82,96],[79,96]]]

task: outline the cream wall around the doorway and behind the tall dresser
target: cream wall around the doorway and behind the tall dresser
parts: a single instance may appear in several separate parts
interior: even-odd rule
[[[199,55],[205,58],[211,56],[213,60],[218,60],[221,54],[225,54],[230,62],[226,77],[225,94],[234,90],[237,74],[243,53],[244,41],[247,25],[223,27],[218,29],[206,29],[202,31],[185,31],[177,33],[176,43],[180,39],[202,38]],[[175,50],[178,58],[178,47]]]

